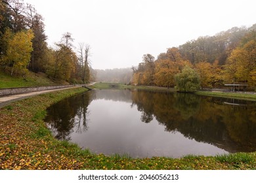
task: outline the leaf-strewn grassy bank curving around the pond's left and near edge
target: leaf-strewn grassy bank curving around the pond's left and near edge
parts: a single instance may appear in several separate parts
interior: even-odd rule
[[[0,169],[256,169],[255,153],[184,158],[104,156],[53,138],[46,108],[84,88],[37,95],[0,108]]]

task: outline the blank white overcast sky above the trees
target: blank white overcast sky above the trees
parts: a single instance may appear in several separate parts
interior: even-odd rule
[[[93,69],[131,67],[143,54],[256,24],[255,0],[24,0],[45,18],[49,45],[72,33],[91,46]]]

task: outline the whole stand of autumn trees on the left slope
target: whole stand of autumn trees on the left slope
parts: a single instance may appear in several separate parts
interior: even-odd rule
[[[53,47],[47,45],[43,16],[22,0],[0,1],[0,72],[26,76],[46,73],[56,81],[86,83],[90,80],[90,46],[73,45],[64,33]]]

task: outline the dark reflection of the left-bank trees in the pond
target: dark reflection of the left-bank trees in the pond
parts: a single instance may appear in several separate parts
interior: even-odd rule
[[[45,122],[56,139],[70,141],[70,133],[87,131],[89,111],[87,107],[92,93],[75,95],[47,109]]]

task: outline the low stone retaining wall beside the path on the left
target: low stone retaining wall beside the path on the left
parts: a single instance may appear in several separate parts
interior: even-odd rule
[[[74,85],[5,88],[5,89],[0,89],[0,96],[14,95],[14,94],[18,94],[18,93],[39,92],[39,91],[43,91],[43,90],[54,90],[54,89],[60,89],[60,88],[68,88],[68,87],[72,87],[72,86],[74,86]]]

